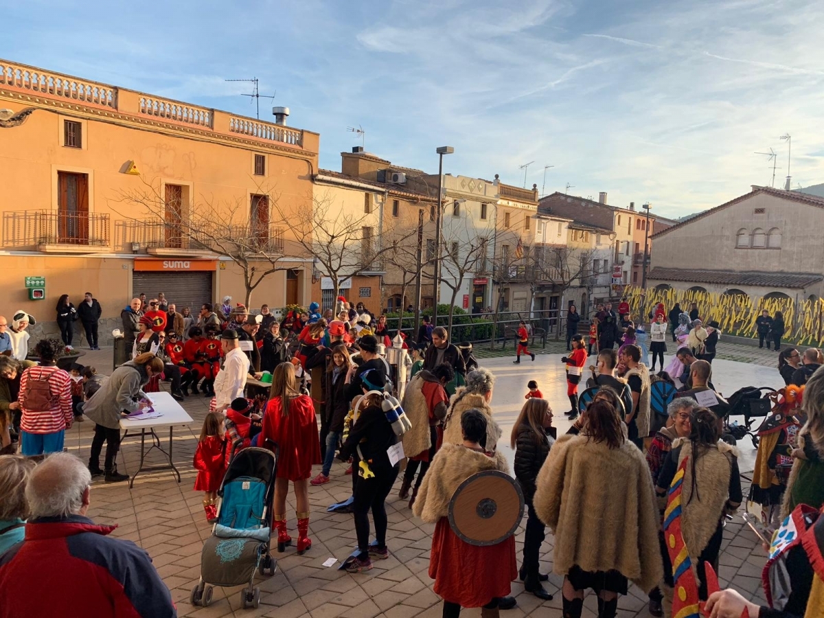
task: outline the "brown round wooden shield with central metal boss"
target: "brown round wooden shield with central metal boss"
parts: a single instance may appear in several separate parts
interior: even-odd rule
[[[515,533],[522,517],[520,485],[497,470],[471,475],[449,501],[449,525],[470,545],[497,545]]]

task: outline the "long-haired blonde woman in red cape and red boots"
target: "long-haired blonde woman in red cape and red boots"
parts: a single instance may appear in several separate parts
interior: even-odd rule
[[[309,531],[309,486],[311,466],[321,463],[321,445],[318,442],[315,409],[307,395],[297,391],[295,368],[292,363],[280,363],[272,374],[269,403],[263,415],[260,430],[262,446],[278,448],[278,472],[274,480],[272,519],[278,530],[278,551],[292,544],[286,532],[286,494],[289,481],[295,490],[297,508],[297,553],[311,547]]]

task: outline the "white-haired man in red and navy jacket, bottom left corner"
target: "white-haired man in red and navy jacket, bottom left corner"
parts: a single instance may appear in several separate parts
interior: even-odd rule
[[[171,593],[145,550],[86,517],[91,475],[54,453],[26,485],[26,539],[0,556],[0,618],[175,618]],[[45,576],[46,566],[57,577]]]

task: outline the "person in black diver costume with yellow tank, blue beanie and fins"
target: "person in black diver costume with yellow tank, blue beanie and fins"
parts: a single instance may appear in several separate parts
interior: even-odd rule
[[[355,405],[355,419],[349,429],[349,437],[340,448],[341,459],[353,457],[353,474],[358,474],[354,486],[352,513],[355,532],[358,535],[358,555],[346,564],[349,573],[372,569],[372,558],[389,557],[386,547],[386,496],[398,477],[399,464],[392,465],[388,449],[395,446],[397,436],[392,431],[386,413],[382,409],[382,391],[386,377],[371,369],[362,375],[363,396]],[[377,392],[376,392],[377,391]],[[375,544],[369,544],[369,511],[375,523]]]

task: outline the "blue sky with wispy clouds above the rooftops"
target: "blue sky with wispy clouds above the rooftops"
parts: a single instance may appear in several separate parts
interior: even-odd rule
[[[123,8],[113,8],[121,5]],[[234,5],[234,6],[232,6]],[[286,105],[321,167],[399,166],[677,218],[750,185],[824,182],[824,2],[301,0],[3,8],[0,58],[255,115]],[[553,166],[545,170],[545,166]],[[545,189],[544,189],[545,178]]]

